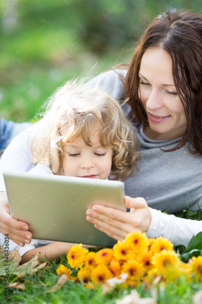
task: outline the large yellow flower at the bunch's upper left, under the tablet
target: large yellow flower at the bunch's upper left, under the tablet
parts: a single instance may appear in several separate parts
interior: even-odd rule
[[[71,268],[81,268],[84,264],[85,256],[88,253],[86,248],[82,248],[82,244],[76,244],[71,247],[67,254],[67,260]]]

